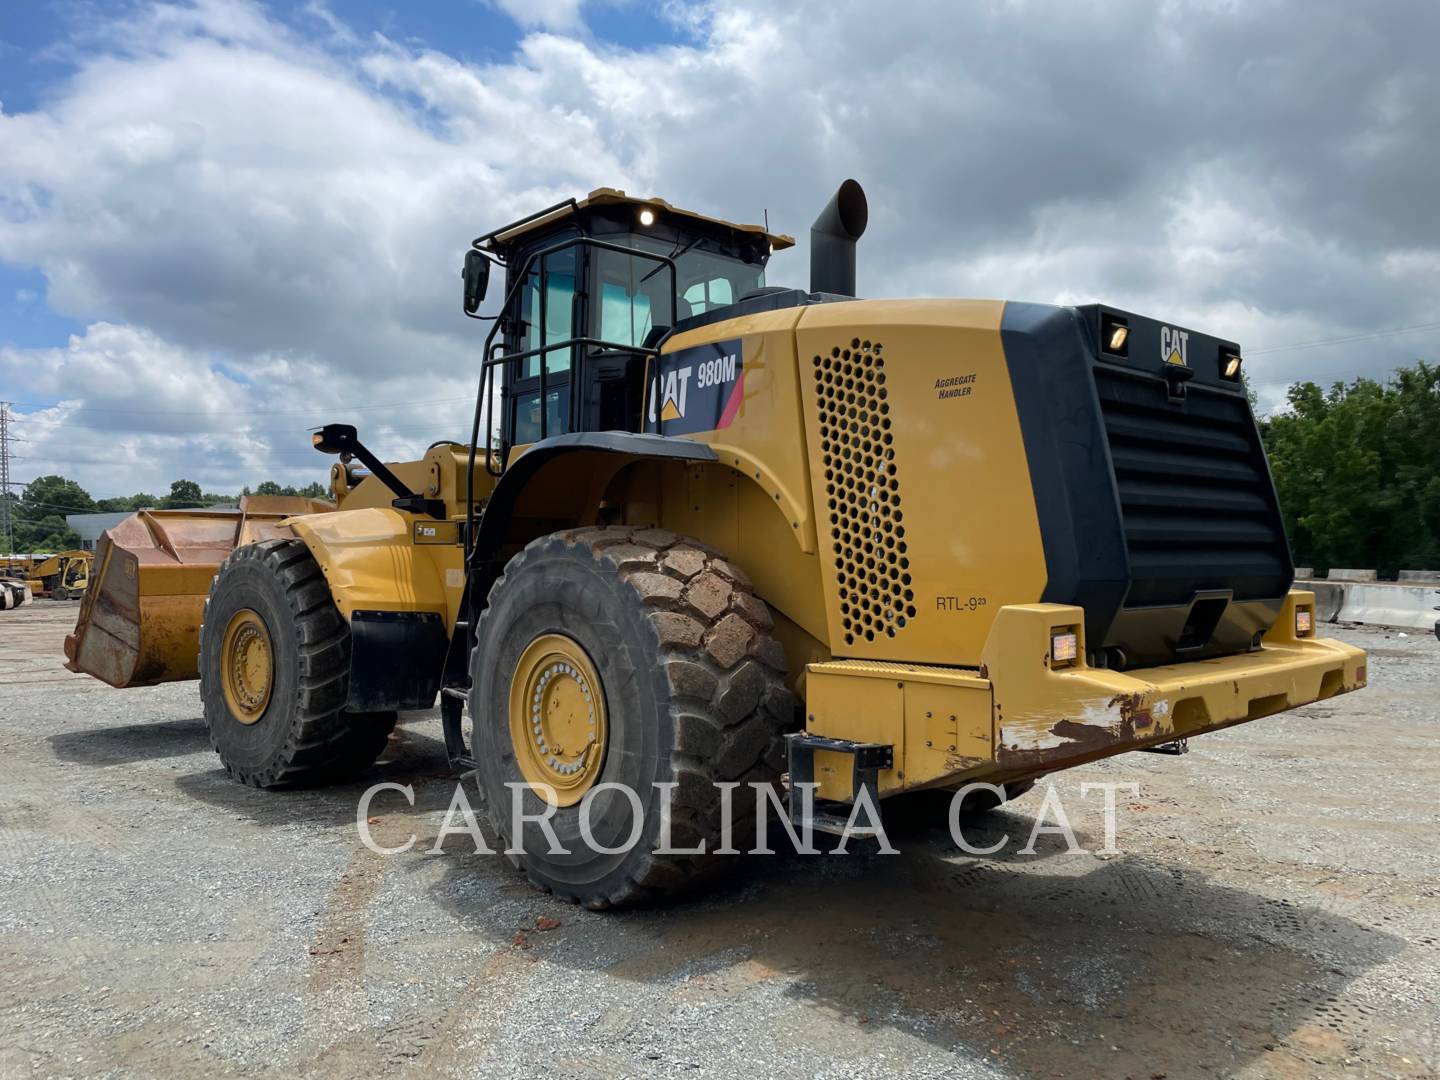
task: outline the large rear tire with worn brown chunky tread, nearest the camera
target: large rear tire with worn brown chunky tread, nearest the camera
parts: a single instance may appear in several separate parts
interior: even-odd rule
[[[560,661],[554,685],[577,678],[572,701],[582,700],[575,697],[579,693],[588,703],[592,678],[599,684],[590,730],[605,733],[603,744],[582,757],[576,755],[583,736],[557,736],[544,721],[544,737],[570,744],[569,756],[560,753],[560,768],[569,772],[557,779],[572,786],[557,792],[562,805],[550,818],[567,854],[552,854],[541,829],[530,824],[521,832],[523,852],[511,855],[536,886],[605,909],[685,890],[720,865],[723,857],[713,854],[721,837],[716,785],[778,780],[782,733],[795,723],[785,652],[770,631],[769,609],[740,570],[698,541],[664,530],[554,533],[510,560],[477,624],[469,698],[478,783],[505,848],[516,847],[507,785],[531,785],[524,769],[531,776],[544,769],[536,750],[517,747],[514,736],[528,736],[530,720],[540,723],[541,706],[534,706],[534,717],[511,719],[511,701],[530,708],[531,698],[543,700],[550,708],[544,697],[550,684],[540,681],[533,696],[531,683],[523,681],[527,671],[534,672],[537,647],[570,649],[573,660]],[[569,732],[577,729],[583,732],[583,723]],[[540,759],[556,749],[540,736],[537,744]],[[622,783],[639,796],[639,840],[628,851],[598,852],[580,832],[585,792],[600,783]],[[704,841],[706,854],[655,854],[662,805],[657,785],[662,783],[677,785],[671,847],[696,848]],[[524,786],[520,798],[526,815],[546,809],[533,786]],[[736,789],[736,848],[752,842],[753,808],[755,792]],[[634,818],[622,792],[603,789],[592,796],[589,821],[600,845],[622,847]]]

